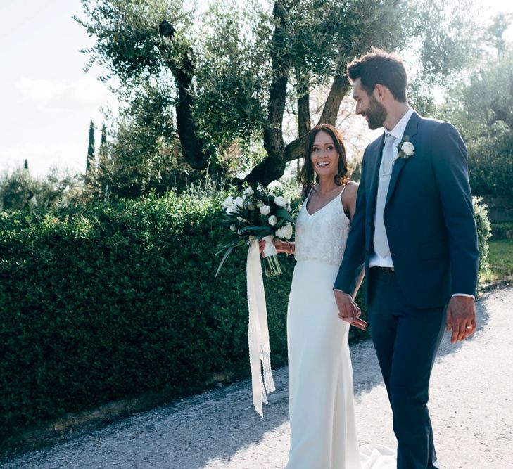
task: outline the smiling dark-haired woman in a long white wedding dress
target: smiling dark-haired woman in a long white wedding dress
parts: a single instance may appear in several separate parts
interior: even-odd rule
[[[314,127],[305,144],[296,242],[274,239],[277,252],[294,254],[297,260],[287,312],[287,469],[356,469],[370,467],[369,459],[376,458],[372,449],[362,449],[362,454],[358,449],[350,325],[338,318],[332,290],[355,212],[358,186],[347,173],[341,135],[328,124]],[[260,242],[260,252],[263,248]],[[351,325],[367,327],[360,317]]]

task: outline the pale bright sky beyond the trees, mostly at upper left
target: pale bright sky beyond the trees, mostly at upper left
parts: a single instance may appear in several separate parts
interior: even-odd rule
[[[485,4],[513,12],[511,0]],[[0,172],[25,159],[37,176],[52,166],[84,172],[89,121],[100,128],[100,109],[115,105],[101,71],[83,71],[80,49],[93,39],[72,15],[84,17],[79,0],[0,0]]]

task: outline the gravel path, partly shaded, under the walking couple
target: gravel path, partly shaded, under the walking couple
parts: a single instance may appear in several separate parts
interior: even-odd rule
[[[451,345],[445,335],[429,405],[444,469],[513,468],[512,313],[513,288],[496,290],[478,302],[478,330],[469,340]],[[360,444],[393,447],[372,343],[351,347],[351,354]],[[283,468],[289,446],[286,373],[274,372],[277,391],[264,407],[265,419],[253,411],[245,380],[83,432],[0,468]]]

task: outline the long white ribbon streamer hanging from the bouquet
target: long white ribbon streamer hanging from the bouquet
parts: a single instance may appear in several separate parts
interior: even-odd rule
[[[267,328],[267,309],[265,306],[264,279],[260,264],[258,239],[250,238],[248,262],[246,264],[248,278],[248,345],[249,364],[251,366],[251,387],[253,389],[253,406],[264,416],[262,401],[267,404],[267,394],[273,392],[274,381],[271,371],[271,350],[269,347],[269,330]],[[262,362],[262,368],[260,366]]]

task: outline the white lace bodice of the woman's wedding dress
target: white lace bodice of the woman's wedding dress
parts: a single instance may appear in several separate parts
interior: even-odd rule
[[[306,210],[308,198],[296,219],[296,260],[340,265],[348,237],[349,219],[344,213],[342,191],[314,214]],[[308,195],[310,197],[310,195]]]

